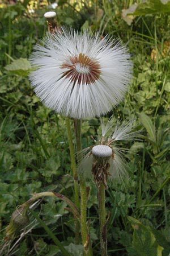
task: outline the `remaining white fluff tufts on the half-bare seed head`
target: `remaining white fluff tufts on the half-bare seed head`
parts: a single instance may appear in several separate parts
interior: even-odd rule
[[[97,152],[98,157],[104,157],[104,156],[111,156],[109,159],[110,168],[109,172],[111,176],[109,176],[111,179],[117,179],[120,183],[124,182],[124,178],[128,177],[127,174],[127,163],[125,160],[126,154],[128,152],[128,148],[124,148],[121,146],[118,146],[119,141],[124,140],[131,140],[138,137],[140,131],[133,131],[135,128],[133,121],[118,121],[115,122],[114,118],[110,118],[109,121],[104,124],[103,121],[101,121],[101,132],[102,135],[99,137],[99,141],[96,142],[96,146],[92,147],[92,150],[90,151],[90,147],[87,149],[84,149],[84,159],[83,159],[83,170],[84,177],[88,176],[90,177],[90,171],[88,168],[88,175],[86,174],[86,166],[88,162],[88,166],[92,166],[92,158],[91,155],[94,155],[94,151]],[[109,134],[109,137],[108,137]],[[101,144],[102,142],[102,144]],[[109,148],[111,152],[109,155],[104,155],[103,151],[105,148]],[[100,152],[101,151],[101,152]],[[113,153],[113,154],[111,154]],[[88,158],[90,156],[90,158]],[[96,160],[96,159],[95,159]],[[80,166],[81,167],[81,166]],[[84,168],[85,167],[85,168]],[[92,176],[92,175],[91,175]]]

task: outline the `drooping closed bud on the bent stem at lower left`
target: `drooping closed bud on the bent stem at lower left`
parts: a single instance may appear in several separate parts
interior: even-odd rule
[[[18,236],[20,230],[29,224],[27,210],[28,206],[20,207],[12,213],[10,224],[6,228],[6,240],[14,239],[16,236]]]

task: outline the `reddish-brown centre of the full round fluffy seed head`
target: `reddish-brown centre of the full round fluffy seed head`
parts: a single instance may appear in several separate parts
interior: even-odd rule
[[[62,64],[61,68],[66,68],[62,77],[70,78],[71,82],[79,85],[92,84],[100,77],[100,64],[97,60],[90,59],[84,53],[70,57],[69,61]]]

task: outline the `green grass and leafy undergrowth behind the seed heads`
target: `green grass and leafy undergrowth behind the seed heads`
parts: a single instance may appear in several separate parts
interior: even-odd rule
[[[130,9],[129,9],[130,7]],[[46,11],[59,26],[118,38],[129,48],[133,79],[115,118],[134,119],[142,141],[126,143],[129,179],[109,186],[109,255],[168,256],[170,253],[170,2],[168,0],[0,1],[0,229],[1,255],[61,255],[32,214],[13,240],[5,239],[12,212],[30,194],[56,191],[74,200],[65,118],[45,108],[29,85],[29,55],[46,32]],[[130,14],[130,15],[128,15]],[[108,114],[108,117],[112,113]],[[99,119],[83,120],[83,147],[97,136]],[[74,135],[73,135],[74,136]],[[73,137],[74,139],[74,137]],[[88,217],[94,255],[100,255],[96,187],[90,186]],[[75,245],[74,218],[66,203],[46,197],[33,207],[66,246]]]

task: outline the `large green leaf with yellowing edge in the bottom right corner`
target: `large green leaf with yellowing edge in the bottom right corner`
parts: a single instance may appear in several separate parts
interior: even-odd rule
[[[131,216],[128,216],[128,220],[134,229],[133,246],[138,256],[162,256],[164,248],[158,244],[150,229]]]

